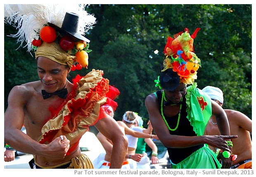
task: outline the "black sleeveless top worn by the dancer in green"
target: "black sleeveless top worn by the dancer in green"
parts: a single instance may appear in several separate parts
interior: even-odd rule
[[[159,111],[161,114],[161,101],[162,101],[162,94],[161,90],[156,91],[156,96],[159,104]],[[190,125],[190,121],[187,119],[187,105],[186,105],[186,98],[185,95],[183,96],[182,107],[180,110],[180,122],[178,128],[175,131],[169,130],[171,135],[180,135],[180,136],[197,136],[193,130],[193,127]],[[164,114],[166,122],[168,123],[171,129],[174,129],[178,123],[178,115],[173,117],[167,117]],[[169,158],[171,159],[172,163],[180,163],[182,160],[190,156],[194,151],[203,147],[204,144],[200,144],[197,146],[191,146],[187,148],[169,148],[167,147],[167,151],[169,154]]]

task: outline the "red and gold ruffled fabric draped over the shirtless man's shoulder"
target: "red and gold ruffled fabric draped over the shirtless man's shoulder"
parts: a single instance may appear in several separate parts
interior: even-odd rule
[[[114,99],[119,96],[119,90],[109,85],[109,80],[100,76],[103,72],[99,74],[101,71],[93,71],[91,72],[92,76],[88,76],[86,78],[88,80],[83,81],[87,85],[91,84],[89,90],[79,91],[83,87],[83,85],[79,85],[79,81],[84,77],[77,75],[72,80],[74,87],[63,104],[58,109],[49,108],[52,118],[43,126],[42,136],[38,142],[48,144],[56,137],[65,135],[70,140],[70,148],[67,153],[69,155],[78,147],[79,140],[89,130],[89,126],[95,125],[98,120],[107,117],[107,113],[101,106],[107,104],[116,110],[118,104]],[[95,83],[91,78],[97,78],[100,81]],[[78,94],[81,95],[78,97]]]

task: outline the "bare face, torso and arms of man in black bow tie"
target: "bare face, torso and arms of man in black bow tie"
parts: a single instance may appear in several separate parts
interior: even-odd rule
[[[15,86],[9,93],[8,108],[5,112],[5,142],[18,151],[36,155],[36,162],[39,165],[52,167],[81,155],[77,146],[66,156],[70,143],[66,136],[63,136],[63,140],[57,137],[49,144],[37,142],[43,125],[51,116],[49,107],[55,105],[57,108],[64,101],[56,95],[43,99],[40,92],[43,89],[54,92],[63,88],[70,69],[46,57],[38,57],[37,61],[40,81]],[[71,92],[73,84],[67,81],[65,88]],[[20,130],[23,124],[27,134]],[[105,128],[110,126],[110,130]],[[114,144],[110,168],[121,168],[120,162],[123,162],[126,153],[127,140],[119,125],[107,117],[100,119],[95,127]]]

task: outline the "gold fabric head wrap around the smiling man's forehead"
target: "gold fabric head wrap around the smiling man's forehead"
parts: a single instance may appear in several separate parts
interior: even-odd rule
[[[35,53],[36,59],[38,57],[47,57],[59,64],[68,65],[69,68],[72,67],[73,59],[75,58],[75,56],[69,55],[67,52],[62,50],[55,42],[43,42],[42,45],[37,48]]]

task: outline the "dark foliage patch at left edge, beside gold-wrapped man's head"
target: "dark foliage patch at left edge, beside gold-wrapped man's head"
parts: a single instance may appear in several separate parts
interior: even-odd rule
[[[19,43],[7,35],[16,34],[16,29],[5,24],[5,109],[7,108],[7,97],[15,85],[38,80],[36,73],[36,60],[27,52],[27,48],[19,47]]]

